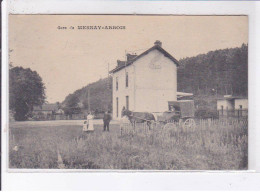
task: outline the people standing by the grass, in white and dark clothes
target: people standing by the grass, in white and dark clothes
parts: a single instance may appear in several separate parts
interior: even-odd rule
[[[89,112],[87,116],[87,120],[83,123],[83,132],[93,132],[94,131],[94,123],[93,123],[94,115]],[[104,131],[109,131],[109,123],[112,120],[111,115],[106,111],[103,116],[103,124]]]

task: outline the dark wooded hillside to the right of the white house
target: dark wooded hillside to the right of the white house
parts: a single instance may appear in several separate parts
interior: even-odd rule
[[[178,91],[195,95],[247,96],[248,46],[210,51],[179,60]]]

